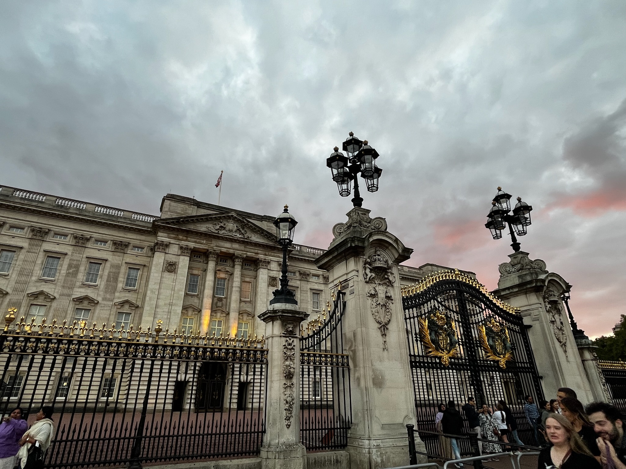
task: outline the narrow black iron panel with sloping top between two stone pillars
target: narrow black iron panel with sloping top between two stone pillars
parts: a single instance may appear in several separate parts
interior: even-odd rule
[[[345,448],[352,421],[350,365],[341,320],[346,293],[300,330],[300,441],[307,450]]]

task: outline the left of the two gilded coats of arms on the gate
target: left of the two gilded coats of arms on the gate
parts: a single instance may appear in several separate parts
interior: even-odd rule
[[[454,321],[439,310],[418,318],[419,340],[426,353],[438,356],[444,366],[450,364],[450,358],[458,356],[458,343]]]

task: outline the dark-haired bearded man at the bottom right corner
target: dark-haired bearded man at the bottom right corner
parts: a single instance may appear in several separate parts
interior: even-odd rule
[[[624,418],[617,407],[605,402],[593,402],[585,408],[593,430],[597,433],[602,465],[612,467],[607,462],[607,455],[615,463],[615,469],[626,469],[626,432]]]

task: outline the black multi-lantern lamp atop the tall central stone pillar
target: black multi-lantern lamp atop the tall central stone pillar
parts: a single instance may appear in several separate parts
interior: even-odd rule
[[[354,181],[354,198],[352,205],[363,206],[363,198],[359,192],[359,178],[365,179],[367,191],[376,192],[378,190],[378,179],[381,177],[382,169],[376,166],[378,152],[369,146],[367,140],[359,140],[351,132],[343,144],[343,150],[348,154],[345,156],[338,147],[334,148],[334,153],[326,159],[326,166],[331,168],[332,180],[337,183],[339,195],[347,197],[351,193],[352,181]]]

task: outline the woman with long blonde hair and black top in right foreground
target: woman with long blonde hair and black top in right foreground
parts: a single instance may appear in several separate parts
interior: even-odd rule
[[[602,469],[567,418],[557,413],[546,419],[552,446],[539,453],[537,469]]]

